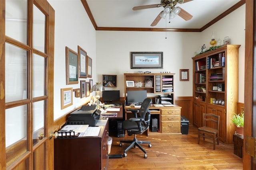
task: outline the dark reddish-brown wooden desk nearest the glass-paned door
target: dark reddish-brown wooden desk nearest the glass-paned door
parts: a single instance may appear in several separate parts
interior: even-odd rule
[[[96,137],[54,139],[54,170],[108,168],[108,119]]]

